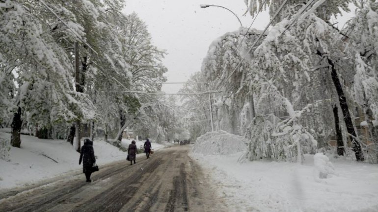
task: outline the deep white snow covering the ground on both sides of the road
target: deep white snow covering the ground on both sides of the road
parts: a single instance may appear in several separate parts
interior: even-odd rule
[[[0,137],[9,139],[10,134],[0,132]],[[122,143],[128,146],[131,141]],[[143,143],[137,141],[136,145]],[[0,189],[69,171],[81,173],[79,153],[66,141],[22,135],[21,145],[11,148],[10,162],[0,160]],[[163,145],[153,142],[152,147],[156,150]],[[128,164],[126,152],[104,141],[95,139],[94,151],[100,169],[112,161]],[[242,154],[190,154],[204,167],[230,212],[378,212],[378,165],[324,155],[317,155],[315,162],[314,155],[305,155],[302,165],[268,161],[240,164],[237,161]],[[320,177],[320,172],[326,174]]]

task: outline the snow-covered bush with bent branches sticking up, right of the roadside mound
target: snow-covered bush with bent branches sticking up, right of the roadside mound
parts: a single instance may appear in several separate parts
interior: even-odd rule
[[[250,142],[247,157],[251,161],[270,159],[301,163],[304,153],[315,152],[317,141],[308,132],[308,127],[300,124],[299,118],[316,103],[308,104],[302,110],[294,110],[292,103],[276,90],[274,96],[281,99],[280,104],[286,108],[289,116],[278,118],[268,114],[255,117],[248,135]]]

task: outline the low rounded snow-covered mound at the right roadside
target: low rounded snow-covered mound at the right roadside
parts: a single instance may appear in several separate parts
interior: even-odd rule
[[[202,155],[231,155],[247,150],[247,140],[225,131],[209,132],[197,138],[192,152]]]

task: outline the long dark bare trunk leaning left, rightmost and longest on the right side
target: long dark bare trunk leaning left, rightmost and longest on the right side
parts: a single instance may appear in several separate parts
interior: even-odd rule
[[[327,57],[327,61],[328,61],[328,64],[330,65],[330,68],[331,68],[331,76],[332,76],[333,84],[335,85],[336,92],[339,96],[339,103],[340,103],[341,111],[343,112],[344,122],[345,122],[345,125],[347,127],[348,133],[351,135],[350,139],[351,139],[354,154],[356,156],[356,160],[357,161],[364,161],[364,155],[363,155],[363,152],[362,152],[362,148],[361,148],[360,143],[356,140],[357,134],[354,131],[354,126],[353,126],[353,122],[352,122],[352,119],[351,119],[351,114],[349,112],[347,99],[344,95],[343,88],[342,88],[342,85],[340,83],[339,76],[337,75],[335,65],[333,64],[332,60],[330,60],[328,57]]]

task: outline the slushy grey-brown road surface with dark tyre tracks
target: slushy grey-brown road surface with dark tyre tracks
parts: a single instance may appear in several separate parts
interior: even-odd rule
[[[222,212],[189,146],[162,149],[82,173],[0,193],[0,212]]]

